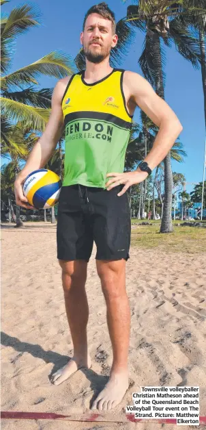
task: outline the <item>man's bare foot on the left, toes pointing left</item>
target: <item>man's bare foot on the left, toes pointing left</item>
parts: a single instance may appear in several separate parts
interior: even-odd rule
[[[91,368],[91,358],[87,359],[76,358],[75,356],[70,359],[68,364],[63,366],[61,369],[57,370],[56,373],[51,377],[50,382],[54,385],[59,385],[66,379],[68,379],[76,370],[82,367]]]

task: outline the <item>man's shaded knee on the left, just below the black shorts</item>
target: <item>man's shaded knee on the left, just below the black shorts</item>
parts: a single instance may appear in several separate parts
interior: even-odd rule
[[[87,280],[87,262],[84,260],[59,260],[59,265],[62,270],[64,291],[70,291],[71,288],[82,288],[85,286]]]

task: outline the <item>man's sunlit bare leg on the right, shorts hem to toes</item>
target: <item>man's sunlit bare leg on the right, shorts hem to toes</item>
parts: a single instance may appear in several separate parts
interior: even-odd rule
[[[106,411],[117,406],[128,390],[130,307],[126,294],[126,261],[97,260],[97,269],[106,300],[113,365],[108,383],[95,399],[91,409]]]

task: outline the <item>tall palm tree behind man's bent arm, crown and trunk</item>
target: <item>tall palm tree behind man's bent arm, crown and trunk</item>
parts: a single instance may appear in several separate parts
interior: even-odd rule
[[[171,42],[186,60],[192,62],[194,67],[198,67],[200,52],[198,40],[194,38],[192,30],[184,21],[181,15],[203,12],[203,8],[188,5],[182,0],[175,3],[170,0],[140,0],[137,5],[128,7],[127,17],[123,18],[127,27],[130,23],[133,27],[146,33],[145,45],[139,64],[145,77],[156,89],[157,94],[164,99],[164,47],[171,47]],[[122,25],[123,28],[123,25]],[[172,169],[171,154],[164,159],[164,212],[160,231],[168,233],[173,231],[171,219],[172,206]]]

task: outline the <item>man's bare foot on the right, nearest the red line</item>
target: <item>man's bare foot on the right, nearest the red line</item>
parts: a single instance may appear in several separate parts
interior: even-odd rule
[[[93,402],[91,409],[99,409],[100,411],[108,411],[116,407],[126,391],[128,390],[128,371],[111,372],[111,376],[106,383],[104,390],[100,392],[97,399]]]

